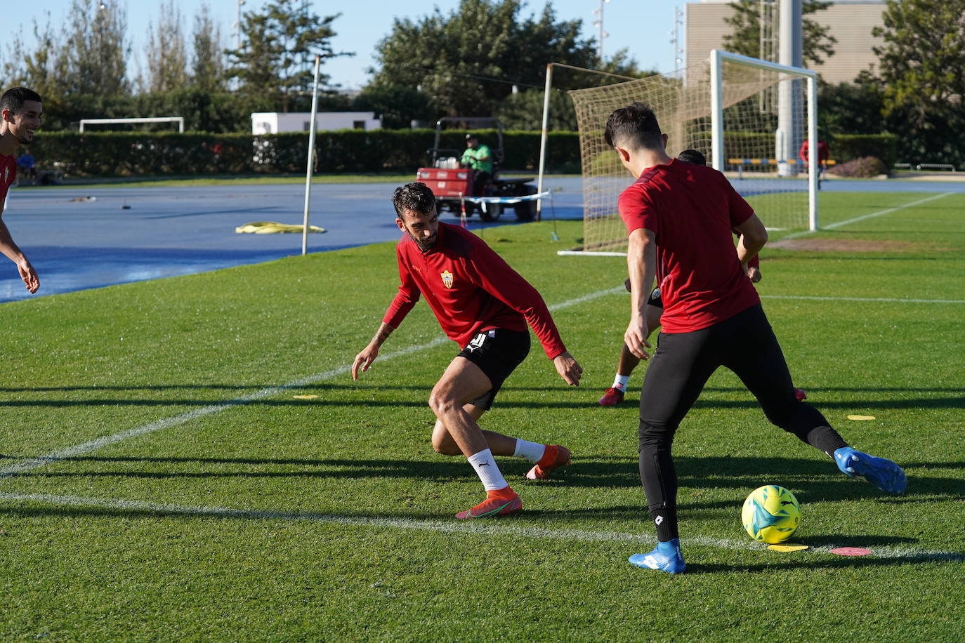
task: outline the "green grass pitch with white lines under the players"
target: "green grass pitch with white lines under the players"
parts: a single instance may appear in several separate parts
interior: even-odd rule
[[[347,373],[395,292],[391,244],[3,304],[0,640],[960,640],[965,195],[901,207],[929,196],[823,196],[824,225],[890,211],[795,240],[850,251],[765,249],[758,284],[795,384],[908,493],[843,476],[718,372],[676,438],[683,576],[626,562],[653,542],[637,394],[595,403],[625,266],[556,255],[580,224],[483,234],[585,368],[567,387],[535,345],[483,417],[573,451],[541,483],[501,461],[525,511],[500,521],[453,518],[482,487],[428,441],[457,349],[424,304]],[[812,549],[744,533],[768,483]]]

